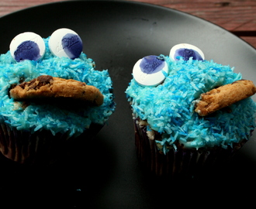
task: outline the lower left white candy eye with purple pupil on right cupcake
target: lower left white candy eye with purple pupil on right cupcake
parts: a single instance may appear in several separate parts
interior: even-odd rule
[[[142,86],[157,86],[165,79],[163,70],[168,73],[168,64],[164,61],[164,57],[150,55],[135,63],[133,78]]]

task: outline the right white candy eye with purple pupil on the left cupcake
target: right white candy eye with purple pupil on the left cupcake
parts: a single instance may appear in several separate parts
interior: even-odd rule
[[[78,58],[83,50],[83,44],[78,33],[71,29],[57,29],[49,39],[51,53],[57,57]]]

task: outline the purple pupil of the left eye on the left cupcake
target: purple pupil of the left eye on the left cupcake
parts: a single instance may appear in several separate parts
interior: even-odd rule
[[[24,41],[17,47],[17,50],[14,52],[14,57],[17,62],[22,60],[39,60],[40,49],[37,43],[33,41]]]

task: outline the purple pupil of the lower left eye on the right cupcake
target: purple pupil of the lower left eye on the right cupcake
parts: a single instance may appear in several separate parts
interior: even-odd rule
[[[144,74],[155,74],[164,68],[164,59],[154,55],[144,57],[140,62],[140,69]]]

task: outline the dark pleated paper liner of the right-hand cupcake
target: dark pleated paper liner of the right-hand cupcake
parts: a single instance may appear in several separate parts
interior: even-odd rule
[[[170,149],[166,154],[157,149],[154,139],[147,136],[145,125],[139,125],[134,119],[135,144],[137,156],[141,163],[156,176],[192,177],[218,164],[227,163],[246,140],[234,144],[233,148],[212,147],[206,149],[186,149],[176,144],[177,149]]]

